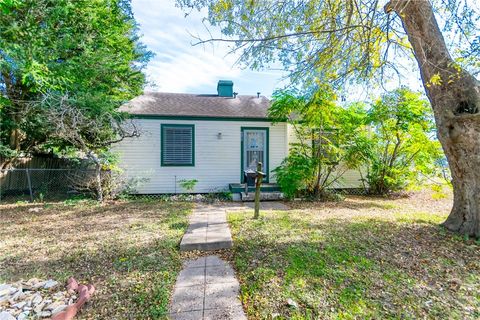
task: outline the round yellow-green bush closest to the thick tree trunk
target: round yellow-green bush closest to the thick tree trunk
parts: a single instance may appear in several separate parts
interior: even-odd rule
[[[362,154],[371,192],[386,194],[432,175],[443,157],[433,114],[420,93],[400,88],[375,101],[355,152]]]

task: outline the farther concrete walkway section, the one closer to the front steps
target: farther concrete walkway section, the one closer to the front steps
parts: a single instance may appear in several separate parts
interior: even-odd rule
[[[197,205],[180,243],[181,251],[219,250],[232,247],[232,235],[224,207]]]

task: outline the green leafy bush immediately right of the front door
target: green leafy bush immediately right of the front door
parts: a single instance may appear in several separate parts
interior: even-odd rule
[[[299,194],[323,198],[346,169],[358,165],[351,149],[363,128],[363,114],[357,106],[338,106],[335,98],[325,85],[311,97],[295,91],[274,94],[269,116],[276,121],[287,119],[297,140],[290,145],[289,156],[274,169],[288,198]]]

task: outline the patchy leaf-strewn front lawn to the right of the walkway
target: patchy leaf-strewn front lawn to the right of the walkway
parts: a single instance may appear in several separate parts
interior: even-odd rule
[[[451,199],[349,197],[232,212],[251,319],[479,319],[480,245],[438,226]]]

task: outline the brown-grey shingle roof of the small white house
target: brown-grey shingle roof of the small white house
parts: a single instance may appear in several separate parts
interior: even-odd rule
[[[133,115],[267,118],[270,101],[263,96],[219,97],[206,94],[146,92],[122,106]]]

